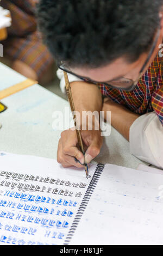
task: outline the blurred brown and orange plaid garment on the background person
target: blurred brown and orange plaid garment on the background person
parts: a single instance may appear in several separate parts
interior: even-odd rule
[[[3,8],[10,10],[12,26],[9,37],[3,41],[4,57],[21,60],[30,66],[39,79],[54,63],[47,47],[42,44],[34,16],[37,0],[2,0]]]

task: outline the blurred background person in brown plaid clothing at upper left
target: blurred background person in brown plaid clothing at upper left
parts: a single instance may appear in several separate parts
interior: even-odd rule
[[[35,4],[38,0],[2,0],[1,6],[11,13],[12,25],[3,41],[2,62],[20,74],[46,84],[55,76],[54,59],[42,44],[37,31]]]

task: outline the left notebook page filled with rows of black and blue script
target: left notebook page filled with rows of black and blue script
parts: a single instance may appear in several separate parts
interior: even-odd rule
[[[85,177],[52,159],[0,152],[0,245],[62,245]]]

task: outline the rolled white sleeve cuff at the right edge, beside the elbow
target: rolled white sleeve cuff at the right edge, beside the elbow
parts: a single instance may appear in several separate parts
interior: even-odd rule
[[[130,152],[163,168],[163,126],[155,112],[141,115],[130,127]]]

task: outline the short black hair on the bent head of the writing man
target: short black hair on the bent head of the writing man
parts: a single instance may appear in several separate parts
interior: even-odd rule
[[[40,0],[37,19],[58,62],[98,68],[136,61],[159,28],[163,0]]]

